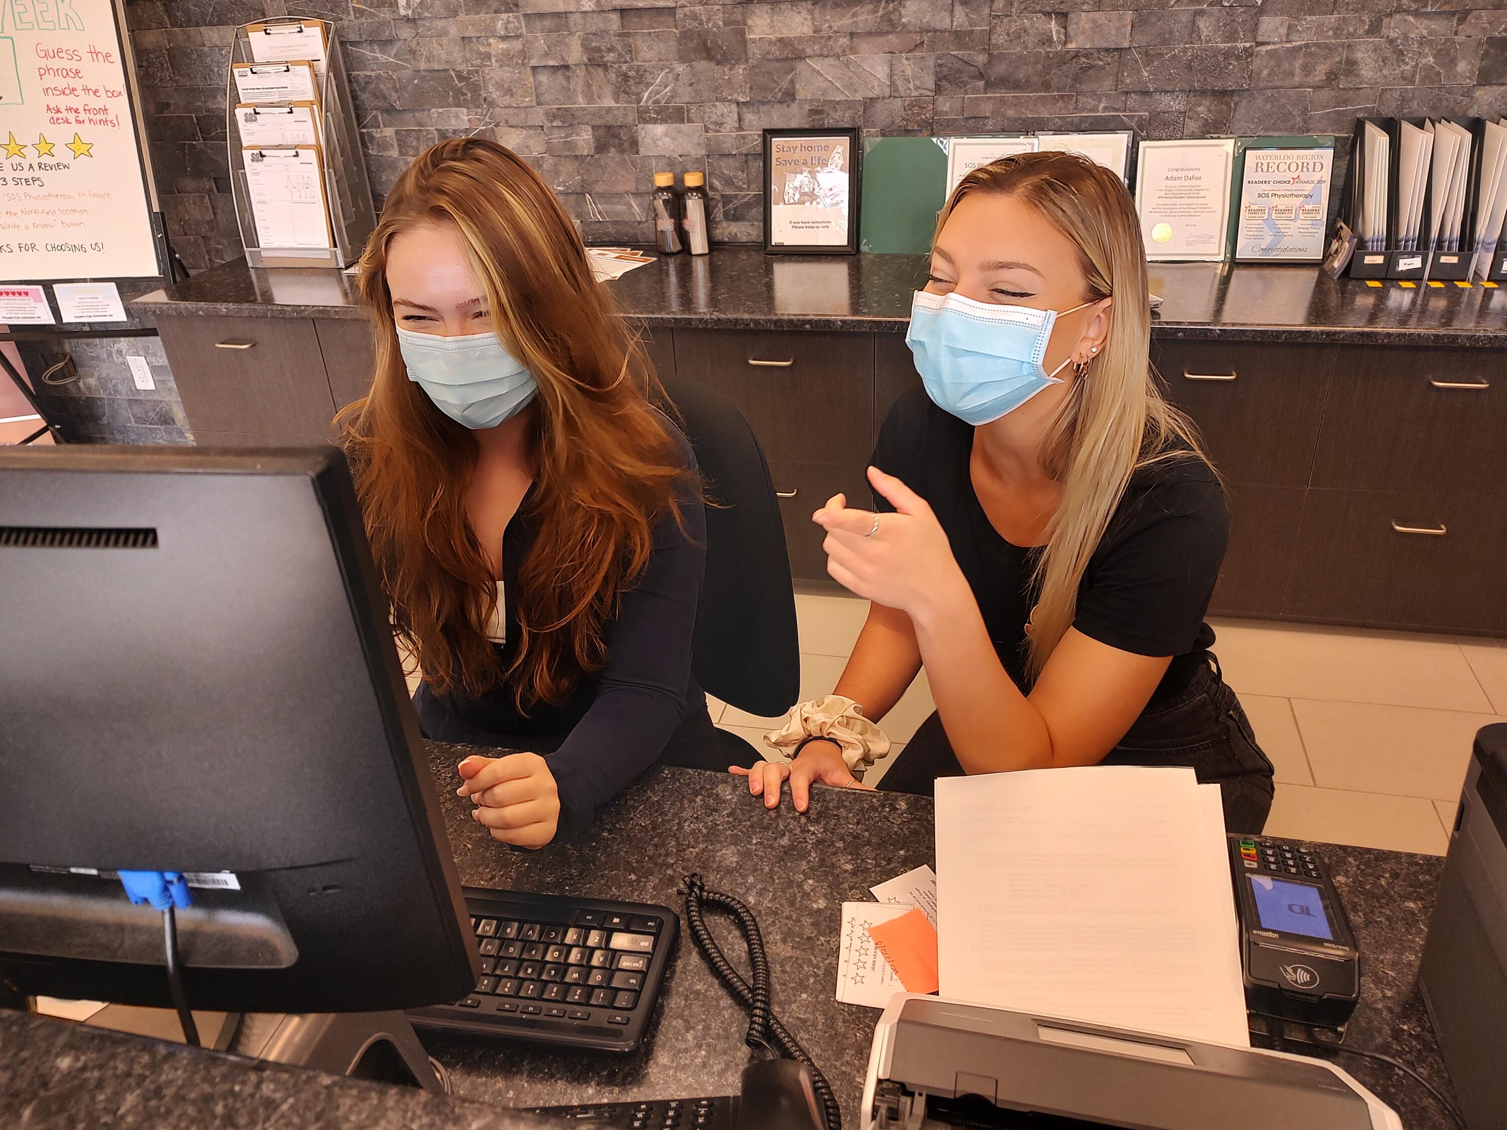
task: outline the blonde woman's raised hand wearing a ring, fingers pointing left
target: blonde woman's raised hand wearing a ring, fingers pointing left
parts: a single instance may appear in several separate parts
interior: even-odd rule
[[[827,532],[821,548],[832,579],[912,618],[949,607],[955,600],[971,600],[967,580],[927,500],[879,467],[868,469],[868,481],[894,503],[894,514],[850,509],[844,496],[833,494],[811,515]]]

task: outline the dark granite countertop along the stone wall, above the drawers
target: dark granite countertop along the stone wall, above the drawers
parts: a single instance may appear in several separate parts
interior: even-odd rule
[[[925,256],[779,256],[720,246],[666,256],[609,283],[657,327],[904,333]],[[1507,342],[1507,288],[1335,282],[1317,267],[1151,264],[1157,337],[1483,347]],[[252,270],[235,261],[131,303],[139,315],[362,318],[341,271]]]

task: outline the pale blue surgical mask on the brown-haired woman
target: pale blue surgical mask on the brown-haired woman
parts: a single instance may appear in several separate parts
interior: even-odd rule
[[[398,327],[408,380],[460,425],[496,428],[533,399],[529,366],[502,348],[496,333],[442,337]]]

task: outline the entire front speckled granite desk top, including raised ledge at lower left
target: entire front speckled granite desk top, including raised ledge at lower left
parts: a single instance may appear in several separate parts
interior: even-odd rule
[[[876,1009],[833,999],[844,899],[933,860],[928,799],[817,789],[811,812],[769,812],[732,777],[653,768],[574,841],[538,853],[509,851],[454,796],[455,764],[467,747],[431,743],[429,761],[461,881],[585,896],[659,902],[680,912],[684,875],[741,898],[758,916],[773,970],[776,1014],[826,1071],[847,1127],[857,1125],[862,1076]],[[1365,954],[1364,994],[1347,1041],[1397,1056],[1448,1094],[1433,1031],[1415,987],[1418,957],[1442,860],[1364,848],[1320,847]],[[741,940],[720,916],[711,925],[735,964]],[[90,1032],[60,1022],[0,1012],[0,1124],[38,1130],[110,1121],[102,1112],[145,1106],[194,1110],[216,1125],[506,1127],[499,1107],[735,1094],[752,1052],[747,1020],[696,952],[686,931],[645,1049],[628,1058],[547,1052],[500,1041],[425,1034],[454,1083],[449,1100],[405,1094],[374,1104],[369,1083],[310,1077],[289,1068]],[[1293,1049],[1298,1050],[1298,1049]],[[20,1058],[18,1058],[20,1056]],[[1447,1116],[1417,1085],[1370,1061],[1341,1065],[1402,1115],[1409,1130],[1445,1130]],[[149,1088],[142,1080],[151,1080]],[[301,1080],[301,1082],[300,1082]],[[389,1092],[390,1094],[390,1092]],[[234,1098],[232,1098],[234,1095]],[[229,1118],[226,1112],[247,1113]],[[481,1106],[476,1106],[476,1104]],[[258,1115],[276,1110],[279,1116]],[[484,1121],[481,1110],[499,1121]],[[380,1112],[380,1113],[378,1113]],[[24,1116],[30,1121],[24,1121]],[[199,1116],[202,1115],[202,1116]],[[431,1116],[433,1115],[433,1116]],[[152,1125],[146,1115],[112,1124]]]

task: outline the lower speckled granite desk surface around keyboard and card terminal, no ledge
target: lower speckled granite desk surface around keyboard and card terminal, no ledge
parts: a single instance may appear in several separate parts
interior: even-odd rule
[[[436,777],[458,783],[455,764],[469,752],[431,746]],[[689,871],[699,871],[708,887],[747,902],[769,951],[775,1011],[832,1080],[844,1125],[857,1125],[879,1012],[833,999],[842,901],[871,899],[868,889],[876,883],[933,862],[931,800],[821,788],[805,815],[788,805],[770,812],[747,796],[741,780],[654,768],[603,811],[595,829],[526,854],[505,850],[472,821],[454,785],[440,796],[461,881],[470,886],[624,898],[680,910],[677,887]],[[1347,1040],[1403,1059],[1448,1092],[1414,984],[1442,860],[1332,845],[1322,851],[1365,954],[1364,999]],[[729,924],[716,919],[713,928],[729,957],[741,955]],[[734,1092],[750,1055],[743,1046],[746,1019],[681,934],[653,1040],[631,1059],[431,1035],[425,1044],[451,1070],[458,1095],[500,1104]],[[1417,1083],[1355,1056],[1340,1064],[1389,1101],[1409,1130],[1450,1127]]]

